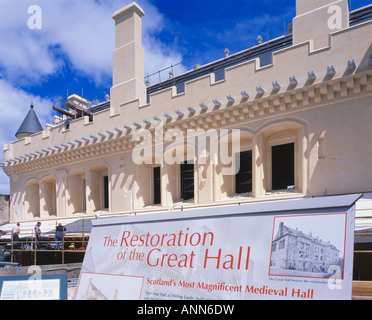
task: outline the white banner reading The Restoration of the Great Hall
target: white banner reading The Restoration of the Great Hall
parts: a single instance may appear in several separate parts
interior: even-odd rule
[[[76,299],[351,299],[354,206],[248,206],[101,222]]]

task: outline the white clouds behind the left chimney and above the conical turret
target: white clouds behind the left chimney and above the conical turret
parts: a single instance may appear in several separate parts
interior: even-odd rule
[[[112,76],[114,21],[112,14],[132,0],[1,0],[0,1],[0,145],[15,140],[15,132],[33,101],[43,127],[51,122],[52,101],[28,92],[32,86],[48,86],[66,68],[100,85]],[[164,45],[157,33],[165,21],[148,0],[138,2],[143,18],[145,74],[182,61],[177,48]],[[29,29],[31,5],[42,12],[42,29]],[[178,73],[185,71],[178,67]],[[61,83],[61,88],[64,84]],[[45,93],[48,96],[48,92]],[[0,155],[0,162],[3,155]],[[0,193],[9,183],[0,170]]]

